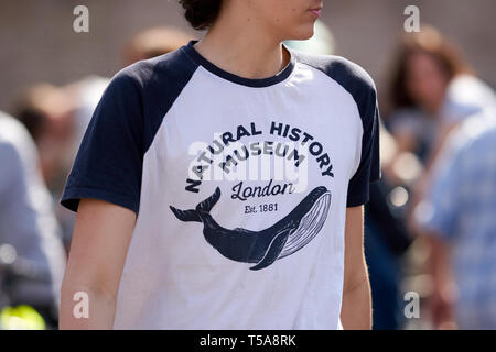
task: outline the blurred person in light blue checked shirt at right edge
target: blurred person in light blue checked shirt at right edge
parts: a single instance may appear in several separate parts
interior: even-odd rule
[[[430,244],[435,328],[496,329],[496,116],[448,138],[414,218]]]

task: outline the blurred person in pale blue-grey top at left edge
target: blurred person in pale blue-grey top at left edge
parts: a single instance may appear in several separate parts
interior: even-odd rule
[[[0,267],[8,304],[34,307],[56,327],[65,253],[35,144],[26,129],[0,112]],[[17,273],[17,276],[8,273]],[[2,293],[0,293],[1,295]]]

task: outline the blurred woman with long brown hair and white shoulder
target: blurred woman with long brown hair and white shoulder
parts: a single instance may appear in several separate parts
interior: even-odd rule
[[[410,189],[407,216],[416,233],[419,229],[411,211],[429,188],[446,136],[464,119],[496,110],[495,95],[474,75],[460,48],[432,26],[405,34],[393,61],[387,127],[395,136],[397,152],[385,173],[396,177],[398,167],[391,166],[407,153],[422,162],[424,170]]]

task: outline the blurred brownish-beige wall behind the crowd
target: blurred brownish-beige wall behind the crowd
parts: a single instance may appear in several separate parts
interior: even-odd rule
[[[89,7],[88,34],[72,30],[77,4]],[[481,76],[496,84],[494,0],[324,0],[323,20],[334,31],[338,54],[367,68],[380,89],[408,4],[418,4],[422,22],[454,38]],[[33,81],[112,75],[121,67],[126,40],[161,24],[187,29],[176,0],[0,0],[0,109]]]

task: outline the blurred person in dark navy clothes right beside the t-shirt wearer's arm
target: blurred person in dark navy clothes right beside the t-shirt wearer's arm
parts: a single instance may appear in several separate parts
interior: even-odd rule
[[[419,172],[419,162],[414,157],[407,157],[407,162],[402,157],[393,161],[396,153],[396,141],[381,124],[381,167],[385,170],[393,169],[390,163],[399,161],[407,164],[410,173],[398,173],[392,177],[385,172],[378,183],[370,185],[370,201],[365,212],[364,246],[370,276],[374,330],[397,330],[405,323],[400,289],[405,276],[403,255],[413,240],[406,226],[406,208],[411,179]]]

